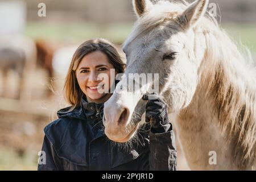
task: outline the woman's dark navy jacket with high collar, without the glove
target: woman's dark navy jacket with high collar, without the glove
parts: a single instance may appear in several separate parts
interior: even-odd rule
[[[79,108],[58,111],[45,127],[42,151],[46,164],[38,170],[176,170],[174,131],[153,134],[144,124],[126,144],[110,141],[102,125],[103,104],[82,100]]]

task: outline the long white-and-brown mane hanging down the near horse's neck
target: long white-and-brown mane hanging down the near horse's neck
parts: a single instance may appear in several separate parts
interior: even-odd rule
[[[207,35],[206,43],[205,57],[199,68],[199,85],[191,102],[193,106],[185,113],[195,113],[196,109],[198,111],[195,106],[207,105],[210,109],[204,112],[217,118],[216,125],[233,143],[232,155],[240,168],[245,168],[255,158],[255,73],[246,68],[241,53],[225,34]]]

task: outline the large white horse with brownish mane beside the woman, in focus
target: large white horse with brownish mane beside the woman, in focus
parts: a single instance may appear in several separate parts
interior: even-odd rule
[[[138,20],[123,46],[125,74],[159,73],[160,96],[174,115],[189,167],[256,169],[255,68],[207,13],[208,0],[133,4]],[[140,119],[134,117],[146,104],[137,91],[114,93],[105,103],[109,139],[135,136]],[[209,162],[211,151],[217,163]]]

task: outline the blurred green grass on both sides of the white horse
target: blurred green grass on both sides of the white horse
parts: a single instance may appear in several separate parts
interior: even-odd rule
[[[96,23],[35,23],[27,25],[25,34],[32,38],[45,38],[59,42],[83,42],[102,37],[121,44],[129,35],[133,23],[113,23],[99,25]],[[222,26],[232,37],[256,52],[255,24],[224,24]]]

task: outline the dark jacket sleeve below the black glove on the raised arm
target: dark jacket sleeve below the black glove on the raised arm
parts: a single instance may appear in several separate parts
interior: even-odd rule
[[[176,171],[177,150],[172,126],[166,133],[150,132],[150,171]]]

